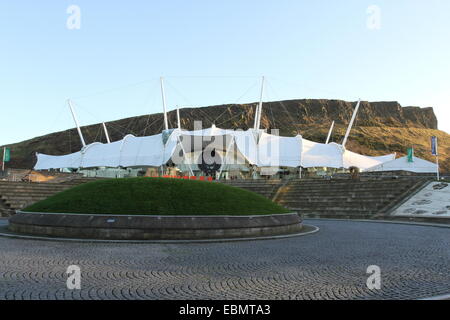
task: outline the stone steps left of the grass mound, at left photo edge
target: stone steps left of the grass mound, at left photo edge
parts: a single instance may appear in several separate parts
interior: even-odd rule
[[[35,202],[47,199],[55,193],[64,191],[95,178],[77,178],[61,183],[33,183],[0,181],[0,217],[8,217]]]

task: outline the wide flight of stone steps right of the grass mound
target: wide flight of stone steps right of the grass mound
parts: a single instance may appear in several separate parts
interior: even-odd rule
[[[305,218],[339,219],[381,218],[427,183],[424,179],[259,181],[227,183],[258,192]]]

